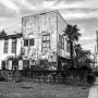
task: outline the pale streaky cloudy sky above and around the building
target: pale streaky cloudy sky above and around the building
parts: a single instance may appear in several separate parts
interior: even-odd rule
[[[98,30],[98,0],[0,0],[0,30],[20,32],[23,16],[58,10],[63,19],[77,25],[84,49],[95,51]]]

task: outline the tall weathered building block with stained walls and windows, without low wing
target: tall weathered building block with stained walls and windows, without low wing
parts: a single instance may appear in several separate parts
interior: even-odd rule
[[[22,19],[23,61],[34,65],[48,60],[54,66],[70,59],[70,48],[63,36],[66,23],[58,11],[50,11]],[[23,64],[23,65],[24,65]]]

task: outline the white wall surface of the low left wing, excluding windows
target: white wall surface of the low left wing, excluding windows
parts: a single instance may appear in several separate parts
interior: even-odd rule
[[[4,39],[0,39],[0,70],[2,69],[2,61],[8,60],[10,57],[17,57],[21,54],[21,40],[22,38],[16,39],[16,54],[12,53],[12,39],[9,39],[8,53],[3,53],[4,49]],[[9,62],[8,70],[12,70],[12,64]]]

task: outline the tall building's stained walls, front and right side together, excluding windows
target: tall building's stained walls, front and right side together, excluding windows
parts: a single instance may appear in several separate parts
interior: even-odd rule
[[[34,38],[35,45],[24,47],[23,59],[38,60],[48,59],[50,62],[57,62],[57,54],[69,58],[66,51],[66,40],[64,37],[64,50],[59,49],[59,35],[62,36],[66,23],[59,12],[51,11],[44,14],[25,16],[22,20],[24,39]],[[42,35],[50,34],[50,48],[42,50]],[[57,52],[58,51],[58,52]]]

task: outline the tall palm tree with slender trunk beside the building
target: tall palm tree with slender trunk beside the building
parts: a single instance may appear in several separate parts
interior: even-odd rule
[[[73,68],[73,45],[78,41],[78,37],[81,34],[78,33],[77,25],[70,25],[68,24],[66,28],[64,29],[63,36],[66,36],[66,40],[70,44],[70,56],[71,56],[71,66]]]

